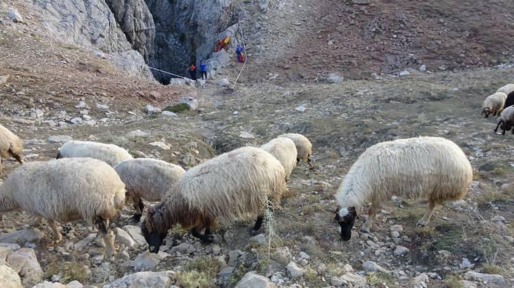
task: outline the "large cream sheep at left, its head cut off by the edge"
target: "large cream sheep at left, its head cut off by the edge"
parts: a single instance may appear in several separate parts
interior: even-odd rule
[[[106,243],[106,257],[114,254],[109,219],[125,202],[125,184],[112,167],[91,158],[34,161],[16,168],[0,185],[0,215],[23,209],[45,218],[60,241],[56,222],[84,219],[97,226]]]

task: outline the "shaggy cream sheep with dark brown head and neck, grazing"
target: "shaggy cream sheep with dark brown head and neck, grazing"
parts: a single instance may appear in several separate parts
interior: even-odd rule
[[[210,243],[216,221],[230,222],[257,214],[254,231],[258,231],[267,200],[278,204],[286,191],[285,179],[280,161],[255,147],[238,148],[191,168],[143,220],[141,230],[150,252],[159,252],[175,224]],[[204,235],[201,229],[205,229]]]

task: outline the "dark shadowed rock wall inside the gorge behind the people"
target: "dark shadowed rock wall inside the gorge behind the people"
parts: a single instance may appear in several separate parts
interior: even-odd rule
[[[215,41],[234,22],[232,0],[145,0],[154,16],[154,57],[149,62],[171,73],[184,74],[188,64],[206,60]],[[171,75],[156,73],[166,83]]]

